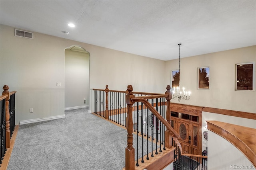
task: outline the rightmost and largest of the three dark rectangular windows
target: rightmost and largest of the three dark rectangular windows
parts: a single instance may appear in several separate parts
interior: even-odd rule
[[[254,91],[255,63],[236,64],[235,90]]]

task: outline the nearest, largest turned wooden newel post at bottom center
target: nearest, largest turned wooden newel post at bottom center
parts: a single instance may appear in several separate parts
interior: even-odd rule
[[[125,149],[125,169],[134,170],[135,169],[135,149],[133,145],[133,123],[132,123],[132,105],[134,102],[131,98],[134,98],[132,93],[132,85],[127,86],[128,93],[126,94],[126,104],[127,104],[127,147]]]

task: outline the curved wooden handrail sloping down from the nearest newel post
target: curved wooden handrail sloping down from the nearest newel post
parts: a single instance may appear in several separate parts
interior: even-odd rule
[[[156,95],[156,96],[166,96],[166,95]],[[167,123],[167,121],[158,113],[158,111],[156,111],[156,109],[146,99],[142,97],[135,97],[135,98],[131,98],[131,101],[142,102],[143,104],[145,104],[148,107],[148,109],[150,109],[150,111],[166,126],[166,128],[172,132],[174,137],[176,137],[177,139],[180,139],[180,135],[172,128],[172,126],[169,123]]]

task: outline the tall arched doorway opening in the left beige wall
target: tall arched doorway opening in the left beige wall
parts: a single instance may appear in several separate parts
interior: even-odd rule
[[[78,45],[65,49],[65,110],[89,107],[90,53]]]

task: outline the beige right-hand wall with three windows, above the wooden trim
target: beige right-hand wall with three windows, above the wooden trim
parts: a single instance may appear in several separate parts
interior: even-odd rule
[[[256,62],[256,46],[182,58],[180,84],[190,90],[192,96],[180,103],[256,113],[256,91],[235,91],[235,64],[246,62]],[[170,83],[171,70],[178,69],[178,60],[165,64],[165,83]],[[204,66],[210,67],[210,89],[198,90],[197,68]]]

